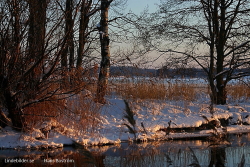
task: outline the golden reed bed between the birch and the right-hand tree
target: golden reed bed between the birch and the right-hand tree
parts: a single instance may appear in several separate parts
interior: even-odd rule
[[[186,83],[164,83],[161,80],[142,80],[140,82],[118,83],[115,91],[124,99],[196,99],[197,90],[194,85]]]

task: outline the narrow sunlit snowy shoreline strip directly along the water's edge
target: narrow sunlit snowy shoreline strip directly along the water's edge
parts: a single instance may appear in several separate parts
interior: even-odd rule
[[[227,127],[228,134],[244,134],[250,132],[250,126],[248,125],[234,125]],[[172,141],[172,140],[196,140],[196,139],[206,139],[212,136],[212,130],[202,130],[200,132],[189,133],[170,133],[159,138],[138,138],[134,142],[154,142],[154,141]],[[5,135],[5,136],[4,136]],[[72,147],[89,147],[89,146],[105,146],[105,145],[116,145],[120,143],[133,142],[129,140],[117,140],[112,141],[107,138],[99,138],[95,140],[75,140],[68,138],[66,136],[57,136],[56,138],[43,139],[43,140],[27,140],[29,136],[21,134],[19,132],[1,132],[0,135],[0,150],[3,149],[14,149],[14,150],[41,150],[41,149],[55,149],[62,148],[65,146]],[[88,141],[88,142],[87,142]]]

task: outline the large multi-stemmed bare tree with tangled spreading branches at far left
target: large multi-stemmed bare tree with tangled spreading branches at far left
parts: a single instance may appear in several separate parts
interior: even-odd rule
[[[60,87],[60,58],[69,36],[58,33],[64,15],[56,3],[5,0],[0,4],[0,113],[4,117],[7,109],[13,128],[25,130],[27,107],[64,99],[84,86],[79,82],[67,90]]]

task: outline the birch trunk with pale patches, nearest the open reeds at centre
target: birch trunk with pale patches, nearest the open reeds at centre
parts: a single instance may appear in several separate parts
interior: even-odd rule
[[[108,34],[108,8],[111,1],[101,1],[101,21],[99,25],[100,42],[101,42],[101,64],[97,83],[97,101],[105,103],[104,96],[108,87],[109,68],[110,68],[110,50],[109,50],[109,34]]]

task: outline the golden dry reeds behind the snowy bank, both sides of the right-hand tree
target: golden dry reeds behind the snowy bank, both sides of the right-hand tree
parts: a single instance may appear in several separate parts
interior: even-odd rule
[[[116,92],[123,99],[159,99],[159,100],[197,100],[197,95],[211,93],[207,85],[197,85],[176,81],[164,83],[160,79],[142,79],[133,81],[124,79],[114,82],[110,92]],[[233,101],[250,99],[250,87],[246,84],[228,85],[228,97]]]

